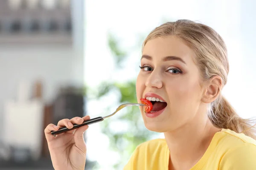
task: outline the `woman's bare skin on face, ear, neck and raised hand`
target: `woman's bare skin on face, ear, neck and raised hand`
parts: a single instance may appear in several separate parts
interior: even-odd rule
[[[167,102],[166,109],[157,117],[145,116],[143,107],[140,107],[140,111],[148,130],[163,132],[165,135],[171,151],[169,170],[193,167],[204,155],[214,134],[221,130],[209,121],[207,107],[218,97],[222,79],[215,76],[207,82],[202,81],[194,58],[192,49],[175,36],[149,40],[143,49],[141,66],[147,67],[137,77],[137,99],[140,103],[140,98],[151,92]],[[62,126],[72,128],[68,122],[81,124],[87,119],[90,117],[62,119],[57,127],[49,124],[45,128],[55,170],[84,169],[86,145],[83,133],[88,126],[79,127],[74,134],[70,131],[56,137],[50,131]]]

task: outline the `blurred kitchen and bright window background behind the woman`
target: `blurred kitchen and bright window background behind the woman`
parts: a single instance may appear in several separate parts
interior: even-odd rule
[[[256,116],[253,0],[1,0],[0,170],[52,170],[44,128],[74,116],[106,116],[137,102],[141,45],[156,26],[189,19],[225,40],[223,94]],[[163,134],[128,107],[86,131],[86,170],[121,170],[136,146]]]

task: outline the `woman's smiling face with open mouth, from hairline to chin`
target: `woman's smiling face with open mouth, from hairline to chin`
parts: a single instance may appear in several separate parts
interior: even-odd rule
[[[136,83],[137,99],[139,103],[141,98],[163,101],[153,102],[151,113],[140,107],[148,130],[168,132],[196,121],[203,90],[193,58],[192,49],[175,36],[146,43]]]

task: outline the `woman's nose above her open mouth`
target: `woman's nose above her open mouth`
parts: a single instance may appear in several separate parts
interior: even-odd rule
[[[145,82],[146,87],[149,88],[162,88],[163,81],[160,73],[157,73],[155,70],[151,72],[150,76]]]

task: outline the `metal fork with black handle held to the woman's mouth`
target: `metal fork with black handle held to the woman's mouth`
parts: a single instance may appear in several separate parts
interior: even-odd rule
[[[52,130],[51,133],[53,136],[56,136],[60,133],[64,133],[64,132],[68,132],[70,130],[74,130],[74,129],[77,129],[81,126],[84,126],[84,125],[91,125],[93,123],[97,123],[97,122],[101,122],[103,121],[104,119],[108,118],[108,117],[111,117],[113,116],[114,114],[116,114],[116,112],[120,111],[122,108],[125,108],[126,106],[145,106],[144,104],[140,104],[140,103],[126,103],[126,104],[122,104],[122,105],[119,105],[118,108],[116,109],[116,111],[114,111],[114,113],[108,115],[108,116],[105,116],[105,117],[96,117],[96,118],[93,118],[93,119],[89,119],[89,120],[85,120],[81,125],[79,124],[73,124],[73,128],[71,129],[68,129],[67,127],[61,127],[59,128],[59,130]]]

